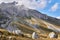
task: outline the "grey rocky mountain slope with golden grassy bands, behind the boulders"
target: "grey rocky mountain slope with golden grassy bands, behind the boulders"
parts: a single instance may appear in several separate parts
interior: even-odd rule
[[[60,19],[47,16],[24,5],[17,5],[15,1],[2,2],[0,4],[0,28],[8,32],[21,30],[24,34],[32,34],[33,32],[38,35],[48,35],[50,32],[59,34]]]

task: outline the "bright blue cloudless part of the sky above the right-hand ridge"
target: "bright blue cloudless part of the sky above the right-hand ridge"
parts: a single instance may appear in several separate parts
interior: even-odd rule
[[[57,5],[57,7],[55,10],[52,10],[51,8],[54,7],[54,5]],[[49,16],[60,18],[60,0],[51,0],[44,9],[38,8],[37,10]]]

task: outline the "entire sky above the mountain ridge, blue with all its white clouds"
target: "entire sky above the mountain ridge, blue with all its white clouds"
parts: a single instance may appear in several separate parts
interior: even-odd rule
[[[12,1],[17,1],[18,5],[25,5],[30,9],[60,19],[60,0],[0,0],[0,3]]]

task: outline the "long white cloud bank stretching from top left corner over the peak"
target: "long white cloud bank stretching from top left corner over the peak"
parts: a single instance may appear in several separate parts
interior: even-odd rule
[[[41,8],[44,9],[51,0],[0,0],[0,2],[12,2],[17,1],[19,5],[25,5],[28,8],[36,9]]]

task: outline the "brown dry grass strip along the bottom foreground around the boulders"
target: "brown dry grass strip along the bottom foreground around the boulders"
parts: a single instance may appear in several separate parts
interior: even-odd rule
[[[4,29],[0,29],[0,31],[2,33],[8,32]],[[9,32],[7,33],[8,35],[0,35],[0,40],[60,40],[59,38],[49,38],[48,35],[46,34],[39,34],[39,38],[38,39],[32,39],[31,37],[28,36],[16,36],[16,35],[9,35]],[[12,34],[12,33],[10,33]],[[11,39],[9,39],[9,37],[11,37]]]

